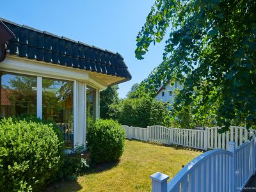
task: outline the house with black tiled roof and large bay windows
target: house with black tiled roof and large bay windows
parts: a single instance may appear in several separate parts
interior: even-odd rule
[[[99,118],[99,92],[131,79],[118,53],[4,19],[0,46],[1,116],[54,120],[67,148],[85,146],[86,127]]]

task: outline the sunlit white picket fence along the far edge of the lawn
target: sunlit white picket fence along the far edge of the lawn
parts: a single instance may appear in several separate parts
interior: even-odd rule
[[[253,130],[244,127],[230,127],[229,131],[219,134],[220,127],[205,127],[205,130],[167,128],[153,125],[147,128],[129,127],[125,129],[126,138],[142,141],[156,141],[167,145],[182,145],[186,147],[207,150],[208,148],[227,149],[229,141],[235,141],[236,147],[242,145],[253,135]]]

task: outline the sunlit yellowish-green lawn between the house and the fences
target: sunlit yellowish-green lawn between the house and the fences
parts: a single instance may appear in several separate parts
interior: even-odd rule
[[[172,178],[200,151],[125,141],[120,162],[95,168],[76,181],[59,182],[48,191],[150,191],[150,175],[162,172]]]

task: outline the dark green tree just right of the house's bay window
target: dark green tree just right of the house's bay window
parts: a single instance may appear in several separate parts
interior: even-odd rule
[[[119,101],[118,85],[109,86],[100,92],[100,118],[109,118],[109,106]]]

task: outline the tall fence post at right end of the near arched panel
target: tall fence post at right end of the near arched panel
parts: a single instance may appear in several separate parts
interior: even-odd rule
[[[231,162],[230,162],[230,189],[231,191],[236,191],[236,142],[229,141],[228,150],[232,152]]]

